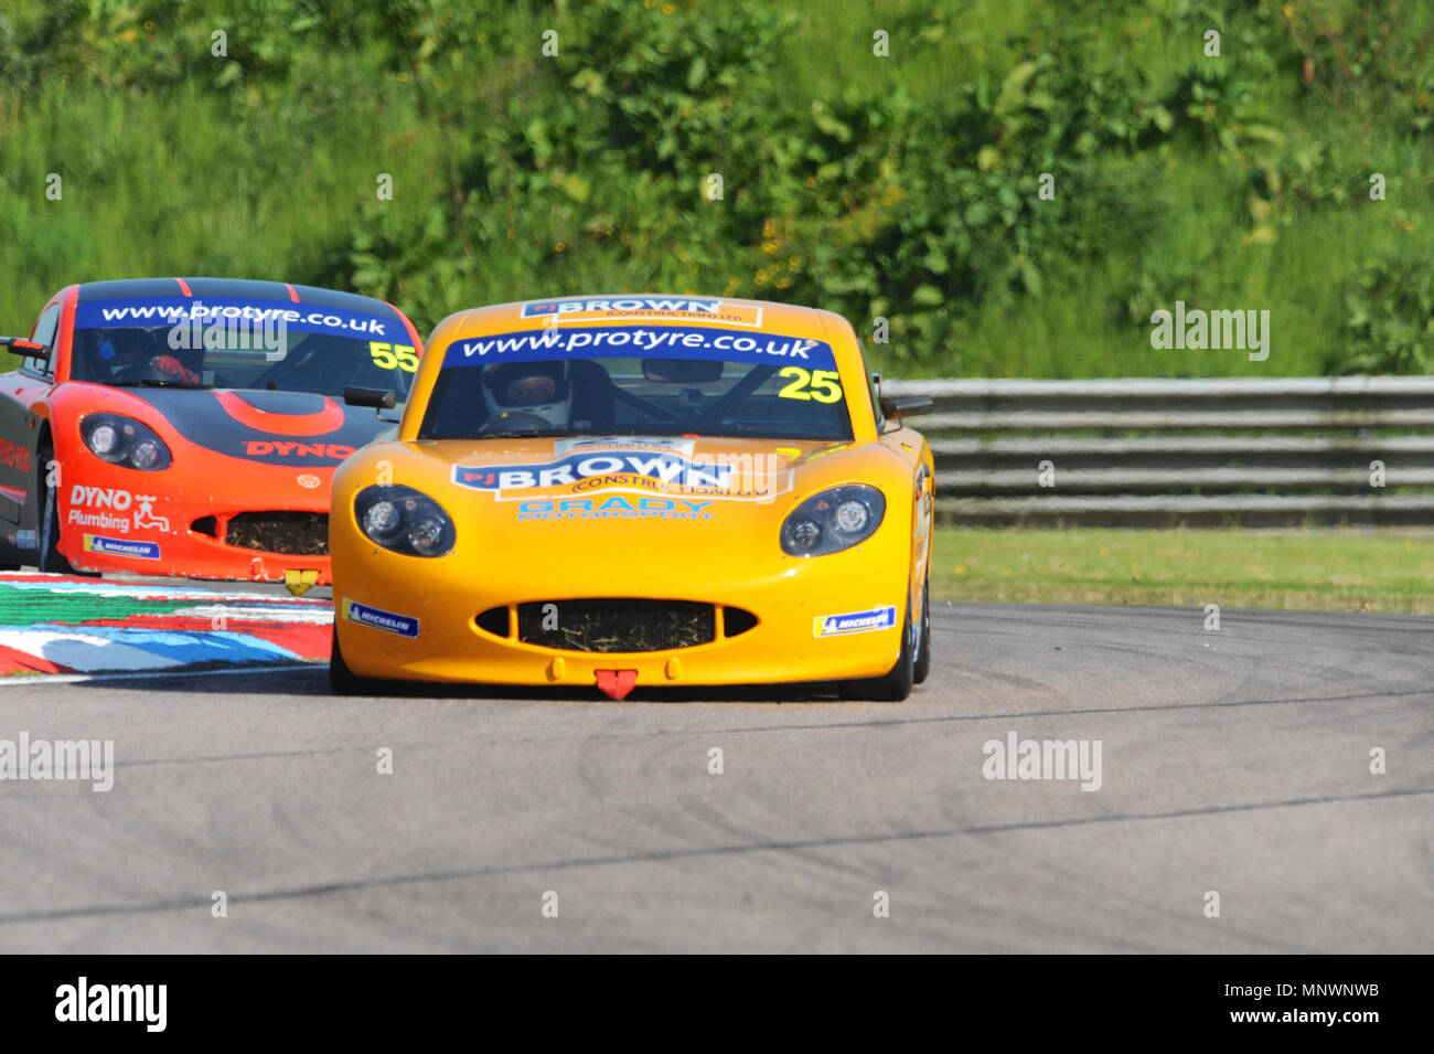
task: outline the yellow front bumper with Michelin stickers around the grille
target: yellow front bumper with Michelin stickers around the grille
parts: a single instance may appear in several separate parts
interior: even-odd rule
[[[901,651],[909,539],[883,528],[863,545],[812,559],[779,558],[756,574],[651,566],[612,554],[574,569],[574,559],[526,565],[495,559],[470,569],[455,556],[420,559],[377,549],[336,531],[334,625],[347,667],[360,677],[513,685],[591,687],[598,671],[631,670],[638,687],[829,681],[886,674]],[[581,559],[576,561],[581,564]],[[478,625],[499,605],[564,599],[650,598],[740,608],[751,628],[667,651],[592,652],[539,647]],[[883,612],[832,632],[817,619]],[[371,612],[379,612],[373,615]],[[396,617],[380,627],[386,617]],[[860,622],[860,619],[856,619]],[[718,627],[721,621],[718,621]],[[827,625],[823,622],[823,627]]]

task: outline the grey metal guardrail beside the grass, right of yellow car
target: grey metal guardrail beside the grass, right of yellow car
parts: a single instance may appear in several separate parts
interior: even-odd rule
[[[913,424],[932,436],[946,522],[1434,525],[1434,377],[889,380],[882,393],[932,397]]]

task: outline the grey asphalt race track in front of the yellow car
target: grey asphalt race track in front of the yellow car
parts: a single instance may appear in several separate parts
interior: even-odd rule
[[[934,634],[905,704],[9,683],[0,737],[113,739],[116,776],[0,783],[0,951],[1434,946],[1434,619],[944,605]],[[1100,740],[1100,790],[987,780],[1011,731]]]

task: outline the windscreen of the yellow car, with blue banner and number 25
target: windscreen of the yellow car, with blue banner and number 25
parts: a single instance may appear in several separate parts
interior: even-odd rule
[[[455,340],[420,439],[850,440],[832,346],[697,326],[561,326]]]

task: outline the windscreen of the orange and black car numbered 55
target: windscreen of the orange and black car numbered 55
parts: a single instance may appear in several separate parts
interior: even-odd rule
[[[158,297],[75,313],[72,380],[343,396],[350,384],[406,399],[417,351],[396,318],[311,304]]]

